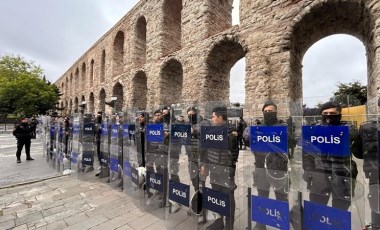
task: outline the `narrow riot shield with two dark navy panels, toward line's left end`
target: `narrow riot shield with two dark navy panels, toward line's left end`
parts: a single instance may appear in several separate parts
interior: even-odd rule
[[[92,114],[84,114],[80,119],[80,155],[78,156],[79,179],[94,177],[95,124]]]

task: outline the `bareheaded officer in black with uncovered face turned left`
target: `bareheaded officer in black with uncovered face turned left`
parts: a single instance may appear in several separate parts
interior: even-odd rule
[[[211,123],[213,126],[227,126],[227,107],[215,107],[212,110]],[[230,199],[230,216],[225,217],[225,223],[223,217],[217,218],[211,225],[207,226],[206,230],[219,230],[219,229],[233,229],[235,220],[235,189],[237,188],[235,184],[235,172],[236,172],[236,162],[239,157],[239,145],[237,140],[237,131],[233,126],[228,127],[228,149],[207,149],[202,151],[201,154],[201,164],[199,174],[202,177],[207,176],[207,170],[210,170],[210,183],[212,189],[229,194]],[[225,175],[220,175],[221,172],[218,170],[207,169],[207,165],[215,165],[220,167],[225,167],[229,169],[229,175],[227,178],[221,178]],[[218,168],[218,167],[217,167]],[[215,181],[224,180],[222,186]]]

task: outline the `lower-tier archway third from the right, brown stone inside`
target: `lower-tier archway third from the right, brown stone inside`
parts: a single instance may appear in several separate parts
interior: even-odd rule
[[[170,105],[182,102],[183,69],[182,64],[174,59],[164,64],[160,72],[159,103]]]

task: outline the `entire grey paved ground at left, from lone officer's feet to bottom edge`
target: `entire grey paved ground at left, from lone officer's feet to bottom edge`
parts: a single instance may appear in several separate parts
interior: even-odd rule
[[[38,140],[31,148],[34,161],[25,161],[23,151],[16,163],[10,133],[0,134],[0,151],[0,229],[165,229],[95,176],[87,182],[50,168]]]

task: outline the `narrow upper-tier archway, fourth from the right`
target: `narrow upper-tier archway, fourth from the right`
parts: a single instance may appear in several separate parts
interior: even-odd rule
[[[113,77],[116,77],[123,73],[124,68],[124,33],[122,31],[117,32],[113,42],[112,60]]]

